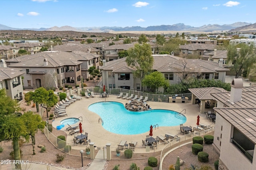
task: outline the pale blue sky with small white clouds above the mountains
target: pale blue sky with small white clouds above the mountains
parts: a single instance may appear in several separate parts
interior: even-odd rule
[[[256,23],[255,0],[0,0],[0,24],[14,28]]]

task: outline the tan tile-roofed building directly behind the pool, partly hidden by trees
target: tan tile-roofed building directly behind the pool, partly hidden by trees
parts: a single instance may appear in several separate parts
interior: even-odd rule
[[[198,78],[214,78],[225,82],[228,69],[213,61],[183,59],[172,55],[152,56],[154,57],[152,70],[162,72],[170,84],[180,83],[182,74],[193,74]],[[128,66],[125,60],[126,58],[109,62],[104,60],[103,66],[100,68],[102,70],[102,83],[108,88],[142,90],[140,78],[133,75],[134,68]]]

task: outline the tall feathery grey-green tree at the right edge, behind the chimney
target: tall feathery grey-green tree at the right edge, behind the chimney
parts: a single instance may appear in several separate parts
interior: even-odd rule
[[[254,44],[240,44],[239,51],[235,45],[230,45],[228,47],[227,57],[228,62],[234,64],[232,69],[236,72],[236,78],[238,78],[242,70],[244,70],[244,75],[247,77],[250,73],[250,69],[256,63]]]

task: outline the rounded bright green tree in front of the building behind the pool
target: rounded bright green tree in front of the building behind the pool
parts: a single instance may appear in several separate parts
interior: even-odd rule
[[[142,80],[143,86],[148,86],[154,92],[160,87],[166,88],[169,83],[168,80],[164,78],[164,75],[161,72],[155,71],[145,76],[145,78]]]

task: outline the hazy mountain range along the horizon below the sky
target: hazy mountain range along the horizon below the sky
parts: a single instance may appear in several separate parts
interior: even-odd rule
[[[33,31],[77,31],[77,32],[109,32],[109,31],[205,31],[205,32],[214,32],[214,31],[240,31],[240,27],[246,30],[256,30],[256,23],[246,23],[246,22],[236,22],[232,24],[208,24],[201,27],[192,27],[190,25],[184,25],[184,23],[177,23],[174,25],[157,25],[157,26],[132,26],[132,27],[71,27],[71,26],[62,26],[62,27],[50,27],[50,28],[12,28],[6,25],[0,24],[0,30],[33,30]],[[253,32],[254,32],[253,31]]]

